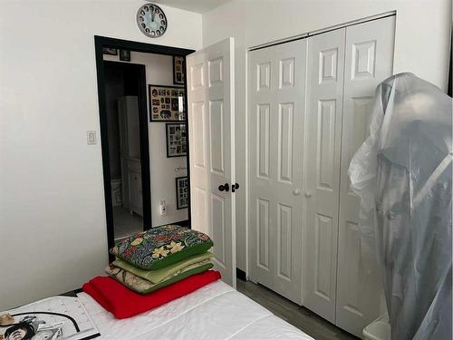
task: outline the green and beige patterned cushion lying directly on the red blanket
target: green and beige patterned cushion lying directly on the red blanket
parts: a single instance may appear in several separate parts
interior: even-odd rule
[[[107,266],[105,272],[113,277],[115,280],[120,282],[120,284],[132,289],[133,291],[140,294],[149,294],[158,290],[162,287],[167,287],[172,283],[178,282],[186,277],[191,277],[192,275],[203,273],[214,267],[214,265],[207,259],[202,262],[189,265],[184,269],[180,270],[178,273],[169,275],[165,277],[161,282],[153,284],[152,282],[145,280],[144,278],[137,277],[136,275],[126,271],[120,267],[115,267],[114,265]]]

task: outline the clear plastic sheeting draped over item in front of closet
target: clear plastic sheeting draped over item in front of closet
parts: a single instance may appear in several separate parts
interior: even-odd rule
[[[362,259],[378,259],[391,339],[451,339],[452,100],[414,74],[376,89],[352,158]]]

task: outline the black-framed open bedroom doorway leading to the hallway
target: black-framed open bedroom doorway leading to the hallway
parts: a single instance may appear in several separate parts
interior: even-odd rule
[[[94,40],[109,248],[114,246],[115,239],[141,230],[170,223],[189,226],[187,114],[181,114],[178,121],[170,124],[170,121],[153,121],[149,110],[152,103],[151,84],[173,85],[172,59],[179,57],[185,63],[186,55],[193,51],[101,36],[95,36]],[[155,73],[149,70],[160,69],[162,65],[149,66],[147,58],[166,61],[167,72],[171,73],[170,84],[159,83]],[[178,84],[175,91],[187,92],[186,84]],[[178,105],[176,102],[174,105],[187,108],[186,96],[181,95]],[[175,136],[169,136],[171,128]],[[167,134],[166,130],[169,130]],[[186,154],[180,156],[179,152],[176,158],[169,158],[178,153],[178,147],[173,150],[165,145],[166,141],[170,137],[181,138],[181,135],[187,140]],[[172,151],[174,154],[171,154]],[[156,160],[161,154],[165,155],[165,160]],[[162,169],[164,166],[169,169]],[[167,181],[159,179],[162,173],[167,174]],[[181,180],[184,177],[186,182]],[[164,189],[161,185],[157,188],[159,186],[153,184],[153,180],[159,184],[170,181],[171,184]],[[183,202],[187,203],[187,207],[181,208],[177,189],[186,190]],[[159,192],[156,192],[159,190],[171,192],[170,199],[161,199]],[[168,216],[167,211],[173,215]]]

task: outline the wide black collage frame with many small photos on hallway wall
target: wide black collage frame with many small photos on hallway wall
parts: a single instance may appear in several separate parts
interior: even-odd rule
[[[185,100],[183,87],[149,85],[150,121],[185,121]]]

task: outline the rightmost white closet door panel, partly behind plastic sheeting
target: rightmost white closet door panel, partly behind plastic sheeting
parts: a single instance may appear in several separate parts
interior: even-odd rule
[[[392,74],[395,17],[346,28],[336,324],[354,335],[380,314],[381,278],[361,263],[359,200],[348,168],[368,135],[376,86]]]

